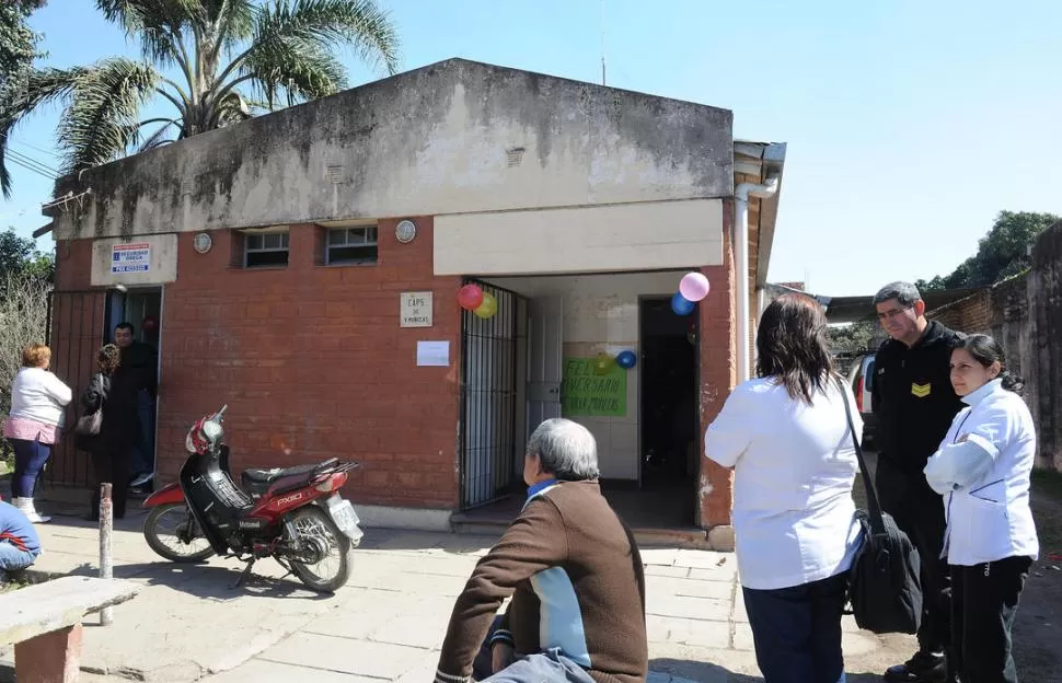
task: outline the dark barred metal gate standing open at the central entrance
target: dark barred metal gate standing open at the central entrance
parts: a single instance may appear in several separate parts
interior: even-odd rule
[[[461,509],[504,497],[515,477],[517,345],[524,300],[500,287],[475,282],[497,299],[486,320],[464,311],[461,320]],[[522,410],[523,407],[519,406]]]

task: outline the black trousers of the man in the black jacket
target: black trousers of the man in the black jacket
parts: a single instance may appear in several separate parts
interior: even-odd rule
[[[922,560],[922,626],[919,648],[943,652],[951,644],[951,586],[944,548],[944,501],[930,488],[925,475],[898,470],[879,456],[876,485],[881,508],[892,516]]]

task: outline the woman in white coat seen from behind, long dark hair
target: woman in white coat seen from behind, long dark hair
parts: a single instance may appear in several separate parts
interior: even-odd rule
[[[766,683],[844,683],[841,614],[861,543],[858,470],[822,308],[785,294],[763,311],[759,378],[734,387],[704,438],[735,468],[738,575]]]

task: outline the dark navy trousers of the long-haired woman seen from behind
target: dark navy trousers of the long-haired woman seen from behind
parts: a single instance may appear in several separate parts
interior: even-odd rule
[[[844,683],[841,614],[847,572],[792,588],[742,588],[765,683]]]

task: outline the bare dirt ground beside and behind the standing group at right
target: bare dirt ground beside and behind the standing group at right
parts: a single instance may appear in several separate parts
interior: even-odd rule
[[[877,458],[867,453],[874,472]],[[866,506],[862,479],[853,495]],[[1014,624],[1014,660],[1021,681],[1062,683],[1062,474],[1038,471],[1032,478],[1032,516],[1040,559],[1032,565]]]

